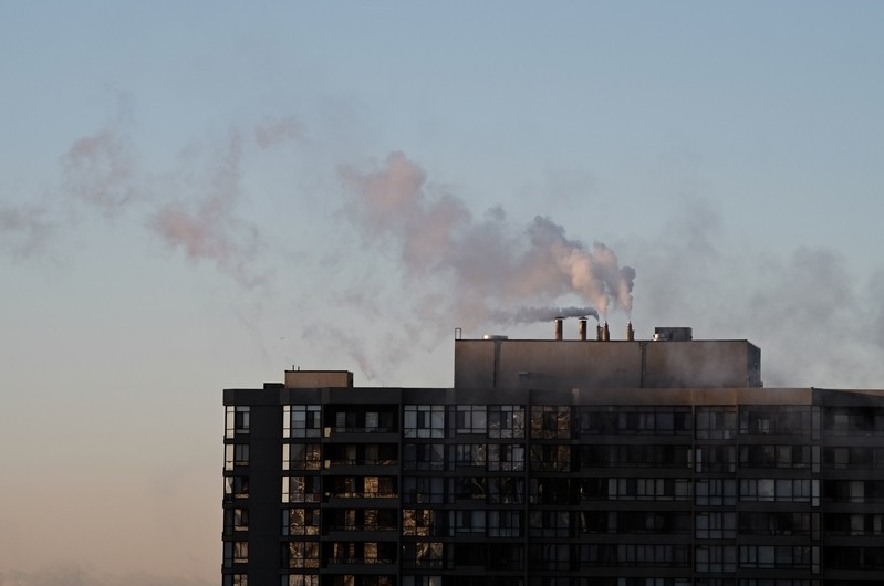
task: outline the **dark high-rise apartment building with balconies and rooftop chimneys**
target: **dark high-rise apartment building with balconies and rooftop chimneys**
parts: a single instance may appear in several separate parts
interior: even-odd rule
[[[223,585],[884,582],[884,390],[585,326],[456,339],[453,388],[225,390]]]

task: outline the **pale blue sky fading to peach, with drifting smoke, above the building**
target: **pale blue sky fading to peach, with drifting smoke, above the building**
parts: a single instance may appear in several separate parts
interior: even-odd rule
[[[456,328],[591,308],[884,388],[882,21],[0,2],[0,586],[217,584],[221,390],[449,386]]]

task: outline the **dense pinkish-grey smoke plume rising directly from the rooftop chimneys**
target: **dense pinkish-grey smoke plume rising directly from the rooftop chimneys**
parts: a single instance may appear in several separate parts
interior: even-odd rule
[[[378,169],[342,167],[340,175],[352,196],[349,216],[363,237],[391,241],[410,278],[450,280],[457,297],[451,311],[460,318],[489,321],[492,306],[573,294],[603,315],[632,311],[635,271],[620,266],[602,243],[587,248],[566,238],[548,218],[535,217],[521,232],[506,223],[500,208],[476,220],[403,153],[391,153]]]

